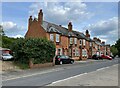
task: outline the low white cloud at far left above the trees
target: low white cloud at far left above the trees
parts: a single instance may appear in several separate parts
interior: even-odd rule
[[[24,27],[18,26],[11,21],[2,22],[1,25],[3,26],[5,34],[9,37],[24,37],[26,32]]]

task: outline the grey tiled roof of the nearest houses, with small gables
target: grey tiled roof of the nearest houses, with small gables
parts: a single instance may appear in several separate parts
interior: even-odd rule
[[[65,35],[65,36],[74,36],[77,38],[81,38],[81,39],[86,39],[88,41],[92,41],[92,39],[87,38],[83,33],[78,32],[78,31],[72,31],[69,32],[67,28],[47,22],[47,21],[43,21],[42,23],[42,27],[44,28],[44,30],[46,32],[54,32],[54,33],[59,33],[61,35]]]

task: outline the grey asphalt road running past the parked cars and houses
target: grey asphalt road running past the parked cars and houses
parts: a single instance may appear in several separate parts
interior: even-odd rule
[[[46,86],[69,77],[96,71],[97,69],[109,67],[118,64],[118,59],[95,61],[89,63],[62,65],[54,67],[54,71],[48,71],[44,74],[41,72],[29,76],[16,77],[13,79],[3,80],[3,86]],[[50,70],[50,69],[49,69]]]

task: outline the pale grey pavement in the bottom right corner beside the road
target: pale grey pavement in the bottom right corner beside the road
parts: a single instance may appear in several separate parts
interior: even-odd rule
[[[47,86],[118,86],[118,65],[58,80]]]

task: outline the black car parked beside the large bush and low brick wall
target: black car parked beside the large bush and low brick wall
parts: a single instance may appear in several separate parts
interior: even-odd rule
[[[73,64],[74,63],[74,60],[71,59],[69,56],[66,56],[66,55],[57,55],[55,57],[55,64]]]

